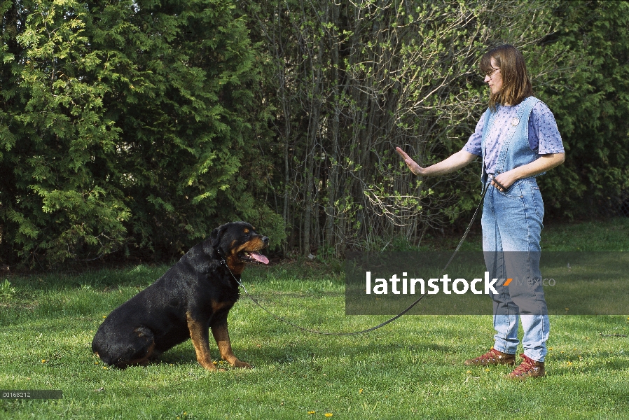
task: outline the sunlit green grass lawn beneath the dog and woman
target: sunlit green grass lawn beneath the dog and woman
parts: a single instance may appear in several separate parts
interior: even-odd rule
[[[553,251],[629,250],[628,219],[551,225],[543,235]],[[340,267],[285,262],[243,278],[265,307],[308,328],[358,330],[387,319],[345,316]],[[90,351],[102,318],[165,269],[0,278],[0,388],[64,393],[0,400],[0,418],[629,419],[628,316],[551,316],[548,375],[514,383],[503,379],[508,367],[462,365],[490,346],[491,316],[403,316],[366,335],[330,337],[279,323],[242,297],[230,335],[254,369],[220,362],[226,371],[207,372],[190,341],[160,363],[104,368]]]

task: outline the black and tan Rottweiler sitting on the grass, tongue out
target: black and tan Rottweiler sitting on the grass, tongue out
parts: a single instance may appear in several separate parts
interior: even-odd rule
[[[197,360],[216,370],[209,355],[209,328],[221,357],[236,367],[251,367],[234,356],[227,314],[238,300],[238,283],[247,262],[268,259],[259,253],[268,237],[249,223],[227,223],[193,246],[151,286],[114,309],[99,326],[92,351],[104,363],[125,368],[145,365],[192,338]]]

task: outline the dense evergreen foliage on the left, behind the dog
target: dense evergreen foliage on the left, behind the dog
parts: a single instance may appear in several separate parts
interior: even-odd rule
[[[225,193],[260,113],[233,3],[0,4],[4,260],[172,257],[240,207],[269,213]]]

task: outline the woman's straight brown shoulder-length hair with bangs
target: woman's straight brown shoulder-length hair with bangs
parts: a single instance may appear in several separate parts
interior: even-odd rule
[[[532,96],[533,87],[526,71],[526,63],[520,51],[513,45],[505,44],[492,48],[481,58],[481,71],[491,73],[494,59],[502,75],[502,90],[490,94],[489,107],[496,111],[497,104],[518,105],[527,97]]]

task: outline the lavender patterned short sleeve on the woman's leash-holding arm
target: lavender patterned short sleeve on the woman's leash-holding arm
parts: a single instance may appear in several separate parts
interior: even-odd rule
[[[538,102],[529,118],[529,146],[539,155],[564,153],[555,116],[544,102]]]

